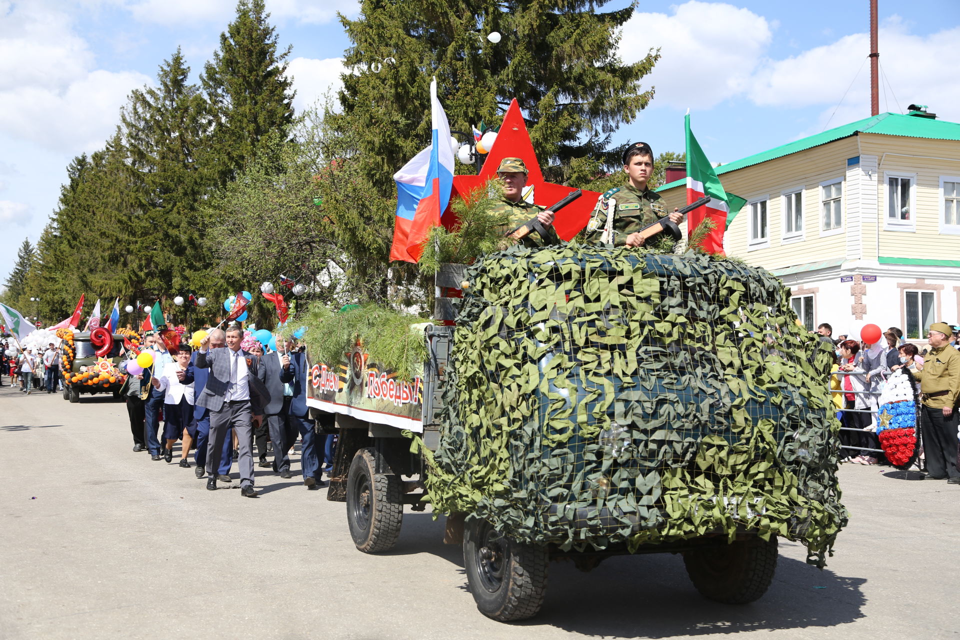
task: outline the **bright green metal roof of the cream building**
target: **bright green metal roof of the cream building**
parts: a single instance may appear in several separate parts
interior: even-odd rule
[[[829,129],[821,133],[809,135],[800,140],[788,142],[780,147],[774,147],[759,154],[748,155],[745,158],[720,165],[716,168],[717,176],[730,171],[750,167],[760,162],[773,160],[784,155],[825,145],[834,140],[847,138],[857,133],[880,133],[882,135],[902,135],[910,138],[932,138],[935,140],[960,140],[960,124],[946,120],[904,115],[902,113],[880,113],[863,120],[857,120],[849,125]],[[674,180],[659,187],[657,191],[665,191],[685,184],[686,178]]]

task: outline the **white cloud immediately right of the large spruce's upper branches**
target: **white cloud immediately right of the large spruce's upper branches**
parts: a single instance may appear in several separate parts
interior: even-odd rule
[[[657,87],[655,102],[709,108],[743,92],[770,43],[770,23],[722,3],[694,0],[672,9],[672,15],[637,12],[620,40],[625,62],[660,47],[660,61],[643,79]]]

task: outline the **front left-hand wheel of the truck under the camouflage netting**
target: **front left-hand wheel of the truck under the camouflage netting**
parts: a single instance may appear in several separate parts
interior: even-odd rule
[[[480,518],[464,528],[464,567],[480,613],[500,622],[532,618],[546,593],[546,548],[521,544]]]

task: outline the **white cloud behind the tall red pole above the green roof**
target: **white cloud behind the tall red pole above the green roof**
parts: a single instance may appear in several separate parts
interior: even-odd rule
[[[878,43],[886,77],[880,78],[880,111],[905,111],[921,103],[941,119],[960,121],[960,83],[952,81],[960,59],[960,27],[913,36],[894,19],[879,30]],[[864,61],[869,51],[869,36],[853,34],[793,58],[768,60],[748,96],[761,107],[826,105],[826,120],[850,87],[830,125],[858,120],[870,113],[870,62]]]

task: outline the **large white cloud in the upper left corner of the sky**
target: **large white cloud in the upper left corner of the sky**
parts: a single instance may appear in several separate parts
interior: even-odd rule
[[[93,70],[69,18],[46,3],[0,2],[0,132],[76,153],[103,146],[138,72]]]

